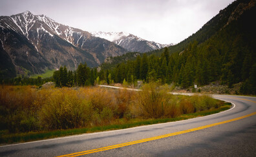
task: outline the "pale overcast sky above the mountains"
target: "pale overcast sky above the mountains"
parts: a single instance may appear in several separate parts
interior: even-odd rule
[[[89,32],[128,32],[162,44],[197,32],[234,0],[0,0],[0,16],[29,10]]]

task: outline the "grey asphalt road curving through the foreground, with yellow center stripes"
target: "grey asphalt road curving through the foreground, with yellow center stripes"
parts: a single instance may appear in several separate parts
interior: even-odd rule
[[[256,156],[256,98],[213,97],[233,108],[184,121],[5,145],[0,156]]]

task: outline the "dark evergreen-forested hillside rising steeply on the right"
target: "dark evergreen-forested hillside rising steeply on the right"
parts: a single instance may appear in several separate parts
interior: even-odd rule
[[[178,45],[120,63],[100,79],[107,79],[109,73],[116,83],[160,80],[184,88],[212,81],[231,87],[242,81],[240,92],[256,93],[255,15],[254,1],[235,1]]]

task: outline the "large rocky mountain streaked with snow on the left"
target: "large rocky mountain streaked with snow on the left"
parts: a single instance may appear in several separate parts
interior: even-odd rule
[[[100,65],[108,56],[127,52],[124,48],[89,32],[61,25],[47,16],[23,12],[0,17],[0,76],[37,74],[47,68],[79,63]]]

